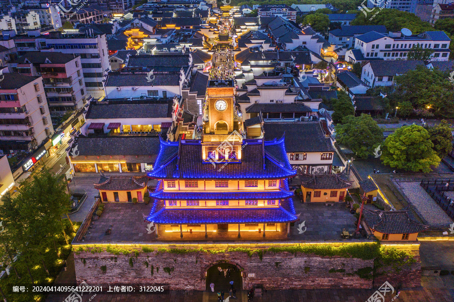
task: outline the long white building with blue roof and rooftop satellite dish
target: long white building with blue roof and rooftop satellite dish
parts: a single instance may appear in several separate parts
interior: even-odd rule
[[[443,31],[426,31],[419,35],[405,36],[401,32],[388,34],[368,32],[356,37],[355,49],[361,51],[367,59],[407,59],[407,54],[413,46],[430,49],[433,53],[431,61],[447,61],[451,39]],[[346,52],[346,58],[355,63],[361,61],[355,56],[354,50]]]

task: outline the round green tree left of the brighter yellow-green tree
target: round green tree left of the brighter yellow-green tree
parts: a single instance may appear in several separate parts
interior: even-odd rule
[[[348,115],[336,125],[336,141],[347,145],[358,157],[367,158],[383,143],[383,129],[369,114]]]

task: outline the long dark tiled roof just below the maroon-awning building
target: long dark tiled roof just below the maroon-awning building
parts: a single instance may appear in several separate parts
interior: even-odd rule
[[[159,153],[159,138],[145,136],[111,136],[84,137],[79,136],[73,144],[79,156],[96,155],[157,155]],[[77,153],[77,151],[75,151]]]

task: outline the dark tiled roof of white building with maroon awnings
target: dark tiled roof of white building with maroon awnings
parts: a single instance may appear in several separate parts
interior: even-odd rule
[[[172,117],[173,99],[90,102],[86,119]]]

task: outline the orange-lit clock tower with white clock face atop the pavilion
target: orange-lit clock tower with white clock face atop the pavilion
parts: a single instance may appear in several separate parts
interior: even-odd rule
[[[203,117],[203,160],[240,161],[243,130],[233,80],[208,81]]]

